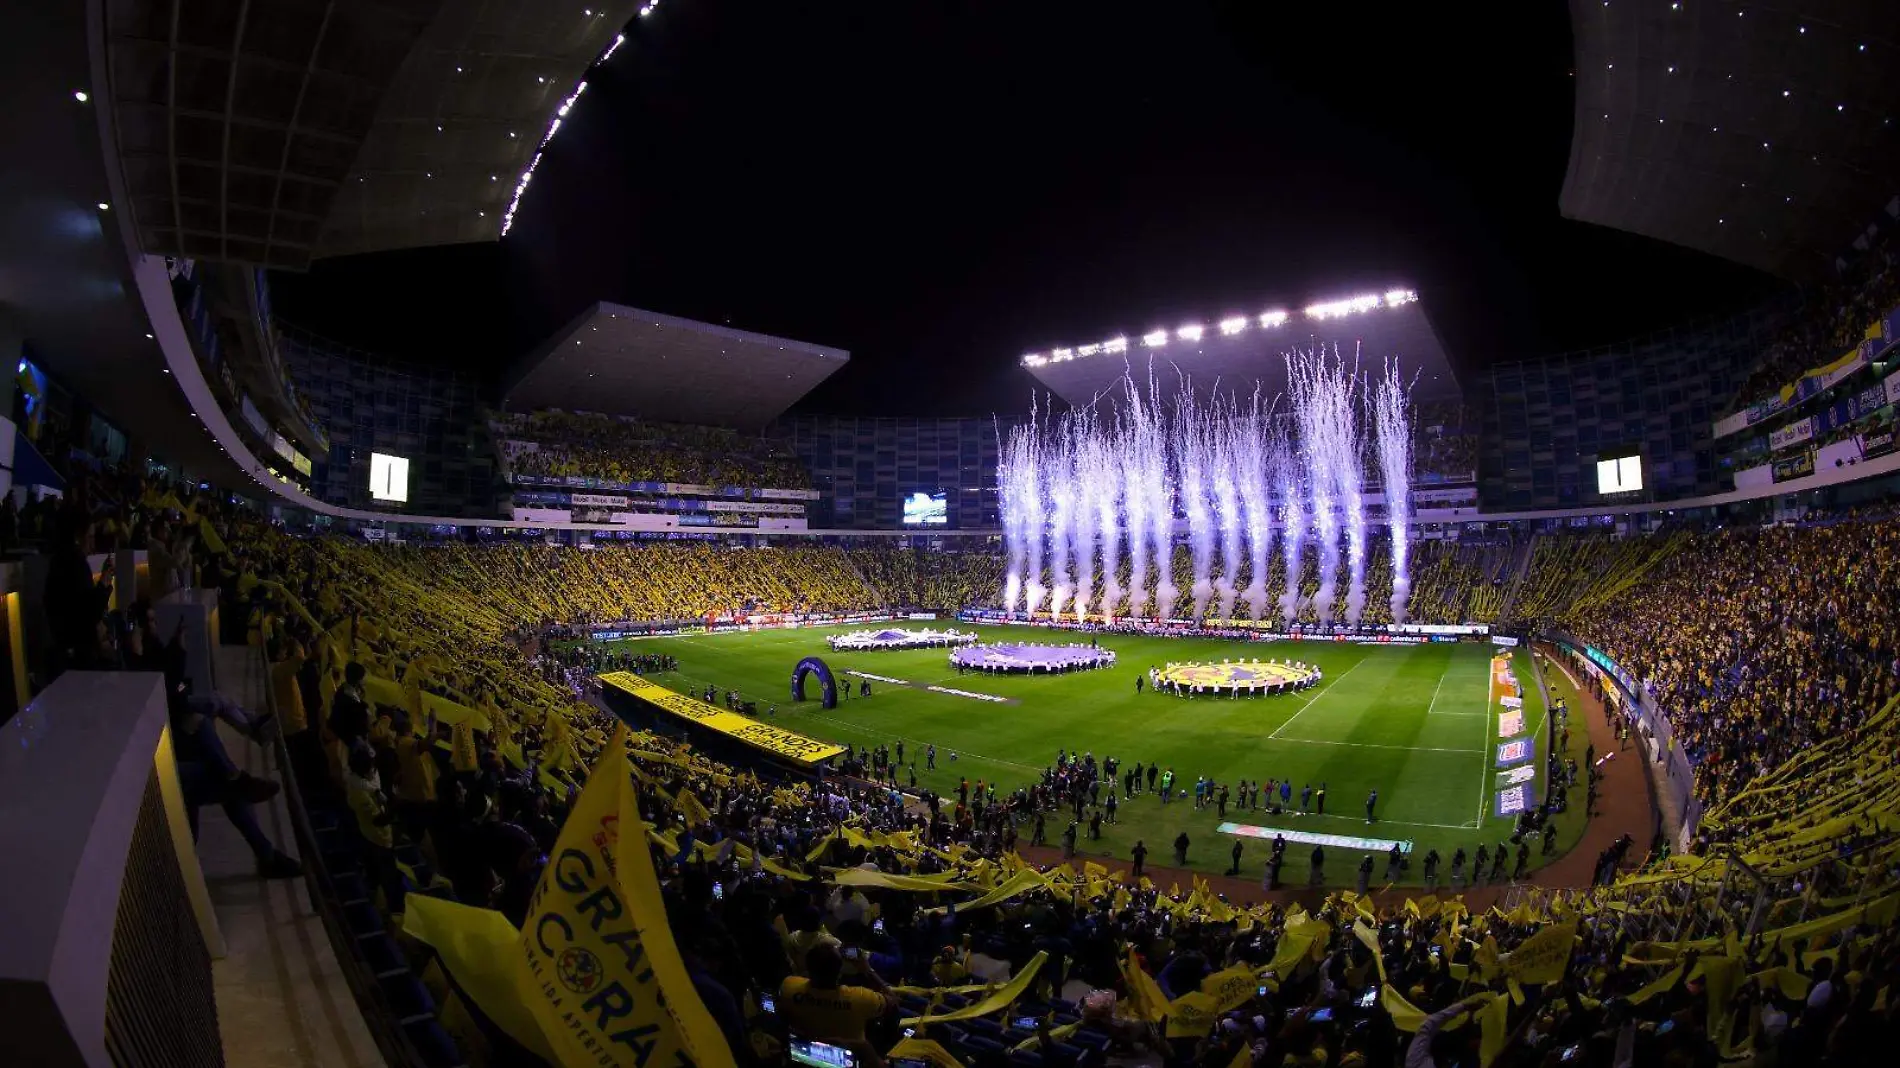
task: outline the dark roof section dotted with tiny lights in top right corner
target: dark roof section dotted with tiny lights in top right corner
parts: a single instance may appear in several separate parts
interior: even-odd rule
[[[1900,192],[1892,0],[1571,0],[1564,215],[1824,277]]]

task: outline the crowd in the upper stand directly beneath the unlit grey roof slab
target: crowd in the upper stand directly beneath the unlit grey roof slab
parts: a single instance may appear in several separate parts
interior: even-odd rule
[[[722,428],[540,410],[496,416],[494,435],[517,475],[578,475],[610,485],[811,486],[811,473],[783,443]]]

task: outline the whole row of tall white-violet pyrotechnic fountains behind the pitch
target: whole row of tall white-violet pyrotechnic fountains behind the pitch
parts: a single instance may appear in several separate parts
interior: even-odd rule
[[[1151,380],[1142,390],[1129,376],[1100,412],[1053,422],[1032,416],[1011,431],[998,471],[1007,555],[1003,610],[1036,614],[1051,595],[1047,608],[1054,616],[1172,618],[1180,597],[1174,540],[1182,534],[1193,566],[1188,593],[1195,620],[1231,620],[1243,595],[1252,620],[1265,616],[1279,547],[1279,608],[1288,623],[1307,610],[1307,618],[1332,623],[1341,604],[1343,621],[1358,623],[1370,551],[1362,464],[1368,443],[1376,443],[1395,524],[1391,606],[1402,620],[1412,511],[1410,426],[1396,363],[1368,382],[1338,352],[1311,350],[1286,355],[1286,376],[1284,418],[1277,401],[1203,403],[1188,388],[1168,412]],[[1362,405],[1370,409],[1364,418]],[[1319,557],[1319,589],[1303,604],[1307,545]]]

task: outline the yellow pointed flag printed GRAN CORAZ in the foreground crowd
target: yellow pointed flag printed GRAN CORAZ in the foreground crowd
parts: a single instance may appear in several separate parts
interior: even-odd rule
[[[646,836],[633,830],[640,817],[623,732],[589,775],[534,889],[515,984],[559,1064],[732,1068],[667,929]]]

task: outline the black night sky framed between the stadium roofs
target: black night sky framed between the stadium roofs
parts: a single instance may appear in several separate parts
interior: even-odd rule
[[[276,306],[498,369],[616,300],[851,350],[800,410],[986,414],[1026,409],[1020,353],[1178,317],[1412,285],[1469,369],[1769,293],[1558,217],[1569,63],[1556,0],[671,0],[500,245]]]

